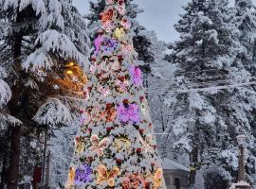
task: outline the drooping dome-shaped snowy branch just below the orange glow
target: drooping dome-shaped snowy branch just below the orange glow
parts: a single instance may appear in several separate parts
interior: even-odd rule
[[[58,126],[72,121],[72,115],[64,104],[57,98],[49,98],[33,117],[41,125]]]

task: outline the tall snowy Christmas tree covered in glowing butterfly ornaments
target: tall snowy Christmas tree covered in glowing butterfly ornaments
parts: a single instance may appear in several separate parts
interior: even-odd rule
[[[125,0],[106,0],[66,188],[166,188]]]

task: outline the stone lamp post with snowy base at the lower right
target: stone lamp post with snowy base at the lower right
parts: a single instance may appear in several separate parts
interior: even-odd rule
[[[236,137],[237,143],[240,149],[239,155],[239,167],[238,167],[238,179],[237,183],[233,183],[230,189],[250,189],[249,183],[246,181],[246,169],[245,169],[245,143],[247,137],[238,135]]]

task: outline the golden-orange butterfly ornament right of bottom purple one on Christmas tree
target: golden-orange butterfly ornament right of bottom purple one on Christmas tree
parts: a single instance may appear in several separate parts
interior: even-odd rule
[[[97,182],[102,184],[102,182],[107,181],[108,186],[113,187],[115,185],[115,179],[119,176],[119,167],[114,167],[112,170],[108,171],[106,166],[101,164],[98,169],[98,179]]]

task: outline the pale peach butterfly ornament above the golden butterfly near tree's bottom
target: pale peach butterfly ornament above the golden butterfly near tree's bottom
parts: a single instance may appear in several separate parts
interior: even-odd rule
[[[103,138],[101,141],[97,135],[91,136],[91,143],[93,146],[90,147],[91,151],[96,151],[99,156],[102,156],[104,153],[104,149],[107,146],[109,140],[107,138]]]

